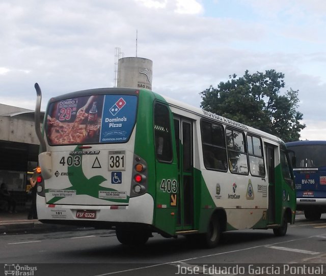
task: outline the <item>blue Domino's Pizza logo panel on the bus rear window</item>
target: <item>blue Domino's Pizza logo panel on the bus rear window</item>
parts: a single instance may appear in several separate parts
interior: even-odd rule
[[[124,143],[135,124],[137,96],[105,95],[100,143]]]

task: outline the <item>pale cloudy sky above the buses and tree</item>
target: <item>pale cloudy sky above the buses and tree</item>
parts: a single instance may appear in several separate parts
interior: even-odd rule
[[[0,103],[114,85],[115,48],[153,60],[152,89],[199,107],[228,76],[275,69],[299,90],[307,128],[326,140],[324,0],[2,0]],[[324,103],[325,101],[325,103]]]

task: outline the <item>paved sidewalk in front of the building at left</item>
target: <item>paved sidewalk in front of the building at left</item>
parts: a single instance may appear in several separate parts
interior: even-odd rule
[[[16,213],[0,211],[0,234],[11,234],[35,231],[80,230],[80,227],[68,225],[44,224],[38,220],[28,220],[29,209]]]

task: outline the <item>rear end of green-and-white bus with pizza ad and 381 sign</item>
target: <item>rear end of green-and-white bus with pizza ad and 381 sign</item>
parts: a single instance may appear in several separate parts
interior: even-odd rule
[[[152,104],[138,114],[140,94],[131,88],[100,88],[49,101],[46,149],[39,155],[41,222],[105,229],[153,223],[148,160],[134,149],[136,139],[147,151],[152,146],[143,138],[150,135],[144,126],[137,135],[137,117],[152,118]]]

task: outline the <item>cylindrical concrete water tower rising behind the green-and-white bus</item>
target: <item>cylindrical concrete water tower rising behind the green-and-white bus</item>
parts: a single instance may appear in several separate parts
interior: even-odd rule
[[[118,87],[152,89],[153,62],[142,57],[123,57],[118,62]]]

